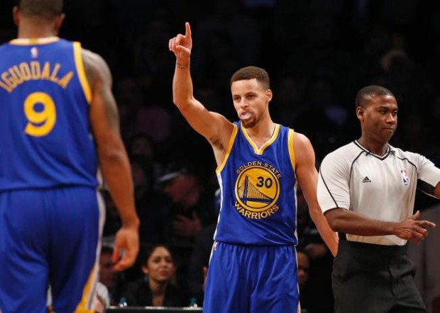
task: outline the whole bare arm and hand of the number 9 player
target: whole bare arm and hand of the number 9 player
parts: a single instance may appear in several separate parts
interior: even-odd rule
[[[116,101],[111,93],[111,73],[104,59],[88,50],[82,51],[84,69],[92,91],[89,118],[97,142],[99,165],[109,186],[122,227],[116,233],[114,268],[123,270],[136,261],[139,249],[138,227],[130,162],[119,132]],[[123,249],[123,256],[119,259]]]

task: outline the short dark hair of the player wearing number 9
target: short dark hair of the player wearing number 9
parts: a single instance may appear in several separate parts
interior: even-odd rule
[[[52,19],[62,14],[63,0],[18,0],[20,12],[28,16]]]

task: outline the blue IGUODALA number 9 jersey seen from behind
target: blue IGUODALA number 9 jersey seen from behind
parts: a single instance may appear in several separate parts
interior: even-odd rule
[[[90,99],[79,42],[0,46],[0,191],[97,186]]]

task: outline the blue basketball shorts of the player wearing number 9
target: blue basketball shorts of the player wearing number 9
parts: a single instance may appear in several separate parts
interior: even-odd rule
[[[104,203],[93,188],[0,192],[0,310],[92,312]]]

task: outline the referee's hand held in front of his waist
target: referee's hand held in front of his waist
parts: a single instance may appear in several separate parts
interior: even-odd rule
[[[436,227],[436,224],[427,220],[417,220],[420,216],[420,211],[408,217],[406,220],[397,224],[394,234],[397,237],[420,244],[422,240],[427,238],[427,227]]]

